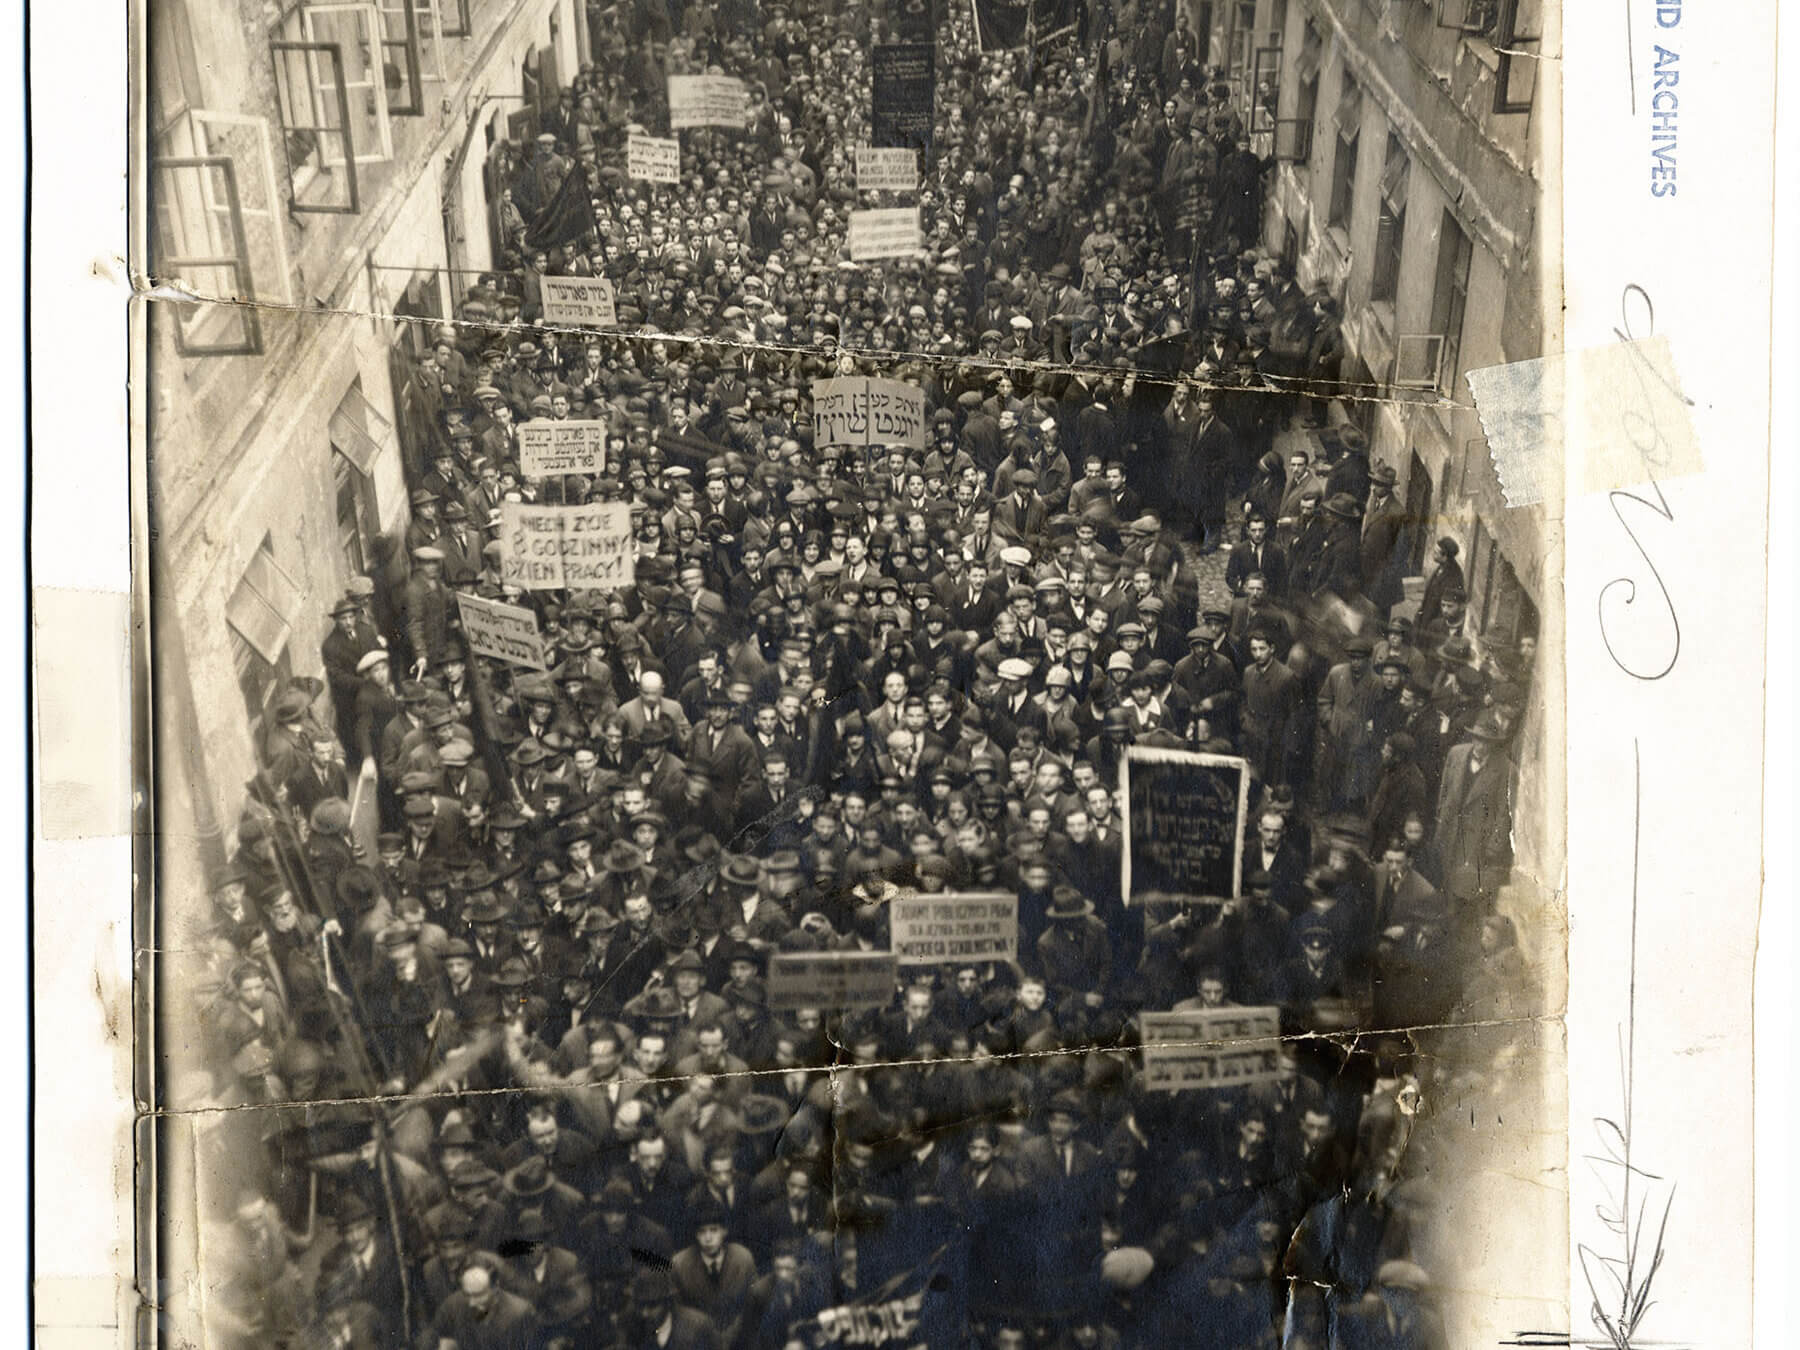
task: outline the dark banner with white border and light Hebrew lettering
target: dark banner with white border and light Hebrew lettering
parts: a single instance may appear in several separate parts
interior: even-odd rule
[[[1132,745],[1120,761],[1120,893],[1238,896],[1249,763],[1231,754]]]

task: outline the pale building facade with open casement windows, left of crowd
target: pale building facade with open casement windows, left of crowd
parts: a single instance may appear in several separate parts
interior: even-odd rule
[[[203,893],[263,706],[405,526],[407,371],[493,265],[490,149],[587,47],[576,0],[149,7],[148,272],[196,297],[146,306],[166,895]]]

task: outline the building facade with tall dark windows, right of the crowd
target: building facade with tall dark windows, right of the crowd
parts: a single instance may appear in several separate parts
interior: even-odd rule
[[[1553,18],[1553,16],[1552,16]],[[1460,545],[1483,634],[1541,634],[1539,679],[1561,670],[1552,540],[1508,508],[1467,373],[1555,349],[1559,221],[1553,81],[1539,83],[1537,0],[1240,0],[1215,11],[1211,50],[1273,160],[1264,245],[1343,313],[1332,416],[1399,473],[1413,571],[1433,540]],[[1541,772],[1559,763],[1544,700],[1521,745],[1519,871],[1553,887],[1561,812]]]

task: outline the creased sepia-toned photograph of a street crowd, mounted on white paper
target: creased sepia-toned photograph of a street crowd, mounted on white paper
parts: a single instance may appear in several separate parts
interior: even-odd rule
[[[1557,22],[139,0],[140,1341],[1568,1346]]]

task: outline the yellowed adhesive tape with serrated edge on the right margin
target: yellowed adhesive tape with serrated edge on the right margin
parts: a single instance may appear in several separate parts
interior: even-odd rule
[[[1539,506],[1570,473],[1579,493],[1699,473],[1692,405],[1667,337],[1469,371],[1507,506]]]

